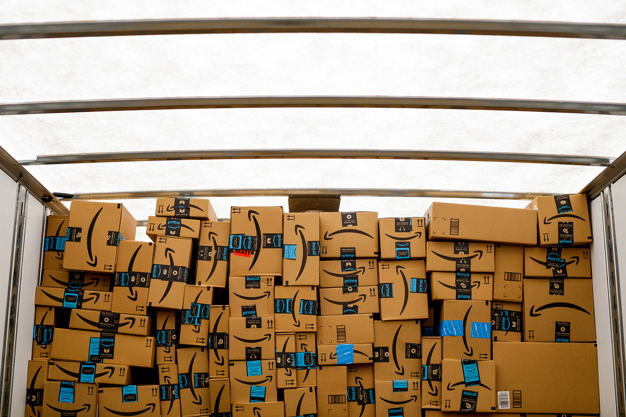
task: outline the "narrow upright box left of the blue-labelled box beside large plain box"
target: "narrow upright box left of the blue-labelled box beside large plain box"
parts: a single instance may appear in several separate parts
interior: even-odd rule
[[[422,337],[422,408],[441,409],[441,337]]]

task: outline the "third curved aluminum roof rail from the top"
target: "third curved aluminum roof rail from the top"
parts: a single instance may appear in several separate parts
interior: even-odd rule
[[[22,165],[56,165],[63,163],[143,162],[215,159],[280,159],[280,158],[354,158],[354,159],[410,159],[447,161],[486,161],[557,163],[608,167],[615,158],[582,155],[552,155],[548,153],[464,152],[435,150],[389,149],[225,149],[225,150],[170,150],[138,152],[66,153],[38,155],[34,160],[19,161]]]

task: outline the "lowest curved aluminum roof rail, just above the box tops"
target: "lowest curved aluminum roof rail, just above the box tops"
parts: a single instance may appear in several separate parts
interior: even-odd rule
[[[97,193],[74,193],[70,200],[115,200],[117,198],[157,197],[289,197],[297,195],[316,196],[367,196],[367,197],[434,197],[434,198],[495,198],[501,200],[532,200],[539,195],[552,193],[466,191],[466,190],[418,190],[413,188],[226,188],[222,190],[149,190]]]

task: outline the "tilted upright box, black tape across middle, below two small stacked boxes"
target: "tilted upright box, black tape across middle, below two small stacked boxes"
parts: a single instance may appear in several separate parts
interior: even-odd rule
[[[159,236],[152,261],[148,306],[180,310],[192,257],[192,239]]]

